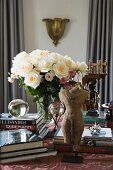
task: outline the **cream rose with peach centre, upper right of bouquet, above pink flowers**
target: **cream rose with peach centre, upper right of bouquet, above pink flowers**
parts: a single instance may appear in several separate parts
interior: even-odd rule
[[[69,74],[69,68],[64,64],[64,62],[54,64],[53,70],[58,78],[67,77]]]

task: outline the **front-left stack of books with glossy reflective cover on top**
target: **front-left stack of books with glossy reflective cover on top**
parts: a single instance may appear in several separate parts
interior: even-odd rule
[[[0,131],[0,163],[9,163],[56,155],[42,136],[27,129]]]

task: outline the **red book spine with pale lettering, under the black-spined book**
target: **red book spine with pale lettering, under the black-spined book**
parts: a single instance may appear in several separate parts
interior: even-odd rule
[[[36,125],[6,125],[6,124],[0,124],[0,129],[3,130],[11,130],[11,129],[27,129],[32,132],[37,132],[37,126]]]

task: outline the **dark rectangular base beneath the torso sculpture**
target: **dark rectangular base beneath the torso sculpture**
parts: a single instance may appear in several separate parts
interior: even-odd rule
[[[64,155],[61,162],[82,163],[83,157],[78,155]]]

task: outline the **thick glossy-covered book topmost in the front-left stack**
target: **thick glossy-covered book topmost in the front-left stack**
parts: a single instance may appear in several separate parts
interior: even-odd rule
[[[0,131],[0,153],[43,147],[43,140],[27,129]]]

